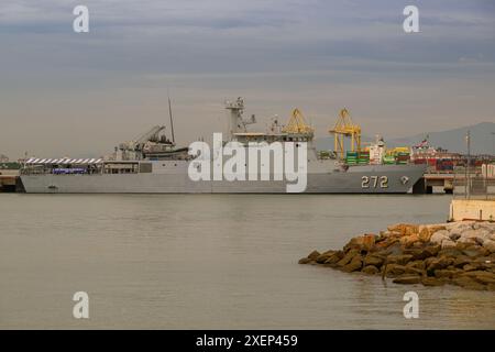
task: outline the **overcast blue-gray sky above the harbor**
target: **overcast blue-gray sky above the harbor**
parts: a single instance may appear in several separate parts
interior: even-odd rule
[[[317,136],[343,107],[385,138],[495,122],[495,1],[0,2],[0,154],[106,154],[168,123],[167,89],[182,144],[221,132],[238,96],[258,129],[298,107]]]

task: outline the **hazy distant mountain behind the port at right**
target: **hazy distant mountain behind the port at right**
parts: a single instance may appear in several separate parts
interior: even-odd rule
[[[385,140],[388,147],[415,145],[421,142],[427,135],[429,136],[430,145],[442,147],[449,152],[465,153],[465,134],[471,131],[471,152],[472,154],[494,154],[495,155],[495,123],[481,122],[473,125],[468,125],[460,129],[441,131],[441,132],[425,132],[421,134],[411,135],[402,139]],[[363,142],[372,142],[373,138],[362,136]],[[333,138],[322,138],[316,140],[318,150],[333,150]]]

